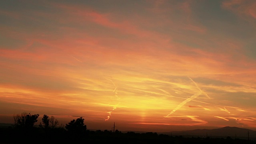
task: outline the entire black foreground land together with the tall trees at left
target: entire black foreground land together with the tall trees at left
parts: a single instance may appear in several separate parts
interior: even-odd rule
[[[122,133],[109,130],[87,130],[82,117],[60,125],[54,116],[44,115],[39,127],[34,124],[39,114],[14,115],[14,125],[0,128],[0,144],[45,144],[45,143],[122,143],[122,144],[256,144],[252,140],[224,138],[184,138],[153,132]]]

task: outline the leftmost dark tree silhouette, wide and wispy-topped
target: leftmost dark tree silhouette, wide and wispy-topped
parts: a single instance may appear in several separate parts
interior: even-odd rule
[[[14,127],[19,128],[32,128],[37,122],[39,114],[30,114],[23,112],[22,114],[16,114],[14,118]]]

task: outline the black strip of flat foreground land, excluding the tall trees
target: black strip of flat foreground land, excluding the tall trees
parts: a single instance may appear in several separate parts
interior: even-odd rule
[[[17,129],[12,126],[0,128],[0,144],[46,144],[46,143],[107,143],[107,144],[256,144],[255,140],[240,138],[185,137],[153,132],[122,133],[109,130],[86,130],[69,132],[63,127],[45,130],[33,127]]]

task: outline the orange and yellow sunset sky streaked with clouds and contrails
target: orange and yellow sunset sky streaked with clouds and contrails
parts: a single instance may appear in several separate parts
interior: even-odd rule
[[[256,130],[255,0],[2,0],[0,123]]]

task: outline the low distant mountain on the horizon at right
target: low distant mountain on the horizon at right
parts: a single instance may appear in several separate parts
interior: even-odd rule
[[[212,130],[207,129],[197,129],[197,130],[186,130],[186,131],[174,131],[174,132],[164,132],[162,134],[172,134],[172,135],[190,135],[190,136],[222,136],[227,137],[230,136],[234,138],[235,136],[237,138],[248,138],[248,132],[249,132],[249,138],[256,138],[256,131],[249,130],[246,128],[237,128],[237,127],[229,127],[226,126],[224,128],[217,128]]]

